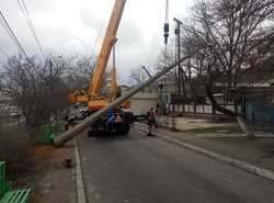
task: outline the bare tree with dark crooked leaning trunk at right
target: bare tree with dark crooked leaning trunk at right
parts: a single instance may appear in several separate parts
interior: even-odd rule
[[[193,8],[187,32],[207,46],[206,92],[217,111],[237,117],[249,138],[253,133],[247,128],[238,113],[220,106],[213,95],[213,84],[220,77],[226,88],[242,81],[242,70],[256,68],[273,58],[274,46],[273,0],[199,0]]]

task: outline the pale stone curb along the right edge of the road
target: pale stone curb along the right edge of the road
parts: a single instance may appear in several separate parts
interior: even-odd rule
[[[144,132],[148,133],[147,129],[145,129],[145,128],[142,128],[140,126],[136,126],[135,125],[135,128],[138,128],[140,131],[144,131]],[[207,150],[207,149],[203,149],[201,147],[196,147],[194,145],[190,145],[190,144],[184,143],[182,140],[178,140],[178,139],[173,139],[171,137],[167,137],[167,136],[161,135],[159,133],[155,133],[153,132],[153,134],[157,135],[157,136],[159,136],[159,137],[161,137],[161,138],[164,138],[164,139],[169,140],[170,143],[173,143],[173,144],[176,144],[179,146],[192,149],[192,150],[194,150],[196,153],[204,154],[204,155],[206,155],[208,157],[218,159],[218,160],[220,160],[222,162],[232,165],[235,167],[238,167],[240,169],[243,169],[243,170],[247,170],[249,172],[255,173],[255,174],[261,176],[263,178],[266,178],[266,179],[270,179],[270,180],[274,180],[274,171],[272,171],[272,170],[269,170],[269,169],[265,169],[265,168],[261,168],[261,167],[258,167],[258,166],[254,166],[254,165],[251,165],[251,163],[238,160],[238,159],[233,159],[233,158],[224,156],[224,155],[218,154],[218,153],[214,153],[214,151],[210,151],[210,150]]]

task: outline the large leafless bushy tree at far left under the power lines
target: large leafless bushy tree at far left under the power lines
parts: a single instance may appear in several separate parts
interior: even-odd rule
[[[65,58],[43,61],[22,55],[9,58],[2,72],[1,93],[21,110],[28,129],[36,131],[48,122],[56,106],[66,106],[67,88],[62,76],[71,61]]]

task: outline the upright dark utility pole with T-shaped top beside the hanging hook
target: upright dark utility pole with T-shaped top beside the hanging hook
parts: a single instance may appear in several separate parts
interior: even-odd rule
[[[176,35],[176,58],[181,58],[181,31],[180,25],[182,25],[182,21],[178,19],[173,19],[176,22],[176,29],[174,31]],[[182,72],[181,63],[178,65],[178,93],[181,93],[181,81],[183,88],[183,95],[186,97],[185,84],[184,84],[184,75]]]

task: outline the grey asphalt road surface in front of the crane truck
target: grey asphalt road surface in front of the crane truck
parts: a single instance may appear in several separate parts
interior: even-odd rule
[[[274,203],[274,181],[142,135],[78,136],[89,203]]]

